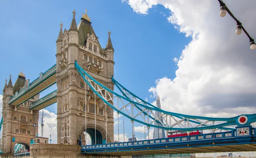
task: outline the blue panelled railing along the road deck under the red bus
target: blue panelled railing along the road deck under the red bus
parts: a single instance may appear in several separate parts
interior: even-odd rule
[[[201,141],[207,139],[219,139],[219,138],[230,138],[235,137],[236,131],[228,132],[218,132],[218,133],[207,133],[201,135],[188,135],[175,138],[161,138],[161,139],[150,139],[142,141],[129,141],[129,142],[119,142],[119,143],[108,143],[108,144],[96,144],[96,145],[86,145],[82,146],[81,149],[92,149],[92,148],[109,148],[109,147],[125,147],[134,145],[144,145],[144,144],[160,144],[160,143],[174,143],[183,141]],[[256,134],[256,129],[251,128],[251,135]]]

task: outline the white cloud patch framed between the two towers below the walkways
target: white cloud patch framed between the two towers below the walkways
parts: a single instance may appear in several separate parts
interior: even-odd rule
[[[38,133],[41,136],[41,119],[42,119],[42,111],[39,111],[39,119],[38,119]],[[52,143],[57,143],[57,115],[53,112],[49,112],[44,109],[44,137],[50,138],[50,134],[52,135]]]

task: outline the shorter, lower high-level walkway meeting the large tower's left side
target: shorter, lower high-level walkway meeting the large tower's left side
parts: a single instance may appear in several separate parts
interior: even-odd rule
[[[44,96],[41,99],[38,99],[38,101],[35,101],[31,104],[30,109],[33,110],[41,110],[44,109],[47,106],[52,105],[53,103],[57,102],[57,90],[49,93],[48,95]]]

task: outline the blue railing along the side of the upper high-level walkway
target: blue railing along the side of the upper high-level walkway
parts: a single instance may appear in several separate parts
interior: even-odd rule
[[[9,104],[13,103],[17,98],[19,98],[21,95],[23,95],[26,91],[29,89],[33,89],[35,86],[38,85],[38,83],[41,83],[41,81],[45,80],[46,78],[49,78],[49,76],[52,76],[56,73],[56,64],[52,66],[50,69],[48,69],[46,72],[41,73],[40,76],[35,79],[33,82],[29,83],[28,86],[24,86],[23,89],[20,89],[19,92],[17,92],[14,96],[10,98]]]

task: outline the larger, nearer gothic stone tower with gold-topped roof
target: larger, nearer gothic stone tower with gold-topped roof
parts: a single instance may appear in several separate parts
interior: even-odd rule
[[[87,133],[91,138],[94,137],[96,113],[96,144],[102,144],[106,139],[110,143],[113,142],[113,109],[107,107],[108,131],[106,138],[105,105],[96,97],[96,111],[94,110],[93,91],[88,85],[85,85],[74,64],[77,61],[93,78],[113,89],[111,75],[113,75],[114,49],[110,32],[106,49],[102,49],[87,13],[82,14],[78,26],[75,15],[74,10],[73,20],[68,31],[64,29],[62,32],[63,25],[61,23],[61,30],[56,41],[57,140],[58,143],[78,145],[81,138],[81,144],[85,145],[85,112],[87,112]],[[87,108],[85,108],[85,104]]]

